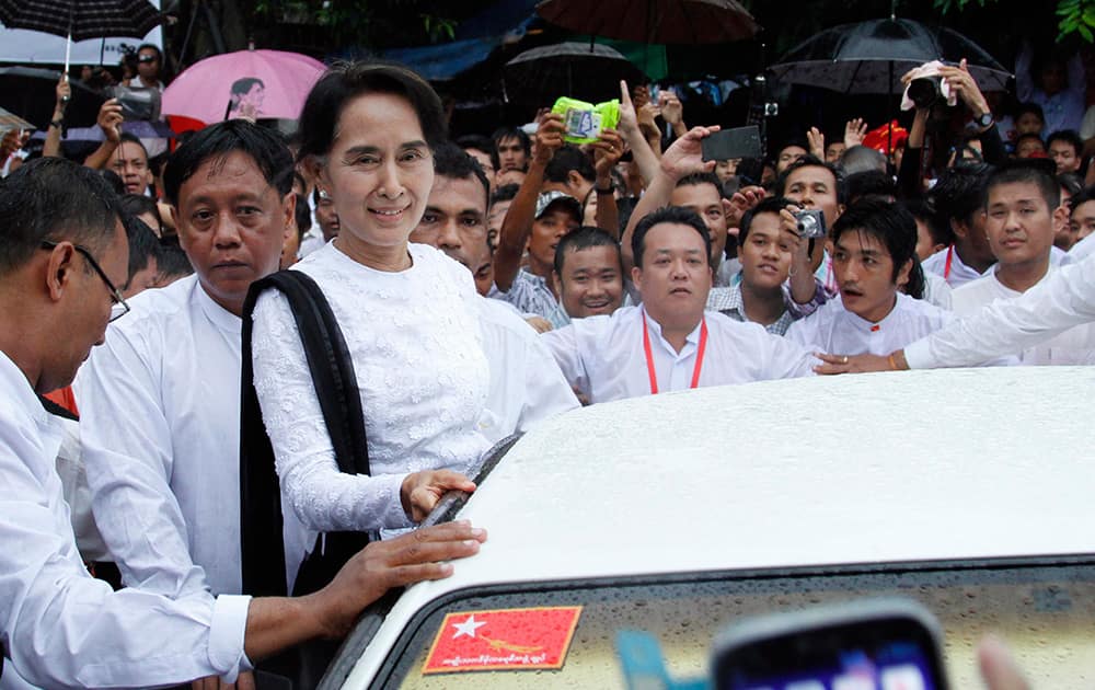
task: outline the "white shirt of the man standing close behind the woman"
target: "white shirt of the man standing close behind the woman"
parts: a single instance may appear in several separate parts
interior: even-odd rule
[[[239,594],[242,321],[196,275],[130,307],[77,378],[99,529],[129,585]]]

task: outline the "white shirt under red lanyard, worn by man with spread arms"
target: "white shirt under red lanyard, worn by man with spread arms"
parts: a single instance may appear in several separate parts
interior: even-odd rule
[[[701,326],[689,334],[678,353],[661,335],[661,326],[643,307],[623,307],[612,315],[575,319],[570,325],[544,333],[563,376],[590,402],[608,402],[650,393],[650,376],[643,347],[646,319],[658,391],[690,388],[696,364]],[[772,335],[756,323],[741,323],[714,311],[704,312],[707,345],[699,386],[724,386],[769,379],[811,376],[812,357],[797,345]]]

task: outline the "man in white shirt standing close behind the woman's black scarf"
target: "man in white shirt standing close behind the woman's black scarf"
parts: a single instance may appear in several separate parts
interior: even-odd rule
[[[80,371],[95,520],[130,586],[242,589],[240,314],[293,231],[291,170],[277,136],[240,118],[180,148],[164,186],[196,273],[138,296]]]

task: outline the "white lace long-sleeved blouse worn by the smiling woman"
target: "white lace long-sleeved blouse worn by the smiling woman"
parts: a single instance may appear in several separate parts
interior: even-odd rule
[[[254,382],[274,447],[283,505],[310,530],[410,527],[400,486],[411,472],[474,474],[489,369],[471,274],[411,244],[411,268],[373,271],[333,243],[293,269],[323,289],[354,360],[371,475],[338,471],[303,346],[277,290],[254,311]]]

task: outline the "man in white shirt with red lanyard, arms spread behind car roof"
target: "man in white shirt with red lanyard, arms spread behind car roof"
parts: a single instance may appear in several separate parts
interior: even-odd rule
[[[800,347],[757,324],[704,311],[712,283],[711,238],[691,209],[647,215],[632,241],[632,280],[643,304],[579,319],[541,336],[587,400],[810,373],[812,359]]]

